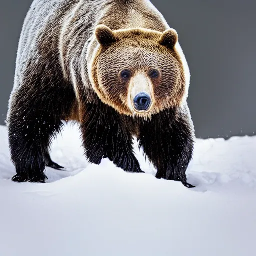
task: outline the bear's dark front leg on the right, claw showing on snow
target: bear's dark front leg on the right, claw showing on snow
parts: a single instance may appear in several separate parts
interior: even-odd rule
[[[194,134],[189,111],[164,110],[140,124],[139,147],[157,169],[156,178],[181,181],[192,159]]]

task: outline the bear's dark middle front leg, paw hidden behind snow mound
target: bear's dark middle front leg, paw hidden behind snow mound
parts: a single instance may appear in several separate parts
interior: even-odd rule
[[[133,152],[132,135],[122,117],[103,103],[86,104],[82,110],[81,132],[89,162],[109,158],[128,172],[143,172]]]

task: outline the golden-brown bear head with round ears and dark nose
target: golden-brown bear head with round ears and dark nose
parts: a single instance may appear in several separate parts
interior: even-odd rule
[[[174,29],[112,31],[99,25],[95,36],[90,81],[104,103],[121,114],[149,117],[183,102],[185,72]]]

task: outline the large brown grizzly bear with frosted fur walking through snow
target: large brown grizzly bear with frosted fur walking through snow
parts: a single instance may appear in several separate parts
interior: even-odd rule
[[[143,172],[133,138],[156,178],[182,182],[192,159],[190,72],[175,29],[149,0],[34,0],[24,21],[7,128],[16,182],[47,179],[65,122],[75,121],[90,163],[109,158]]]

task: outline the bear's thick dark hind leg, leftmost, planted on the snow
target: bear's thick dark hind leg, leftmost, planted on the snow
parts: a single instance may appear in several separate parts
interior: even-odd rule
[[[41,115],[44,111],[36,104],[31,108],[22,100],[15,102],[8,117],[10,154],[17,172],[12,180],[45,183],[45,153],[62,122],[51,118],[50,113]]]

